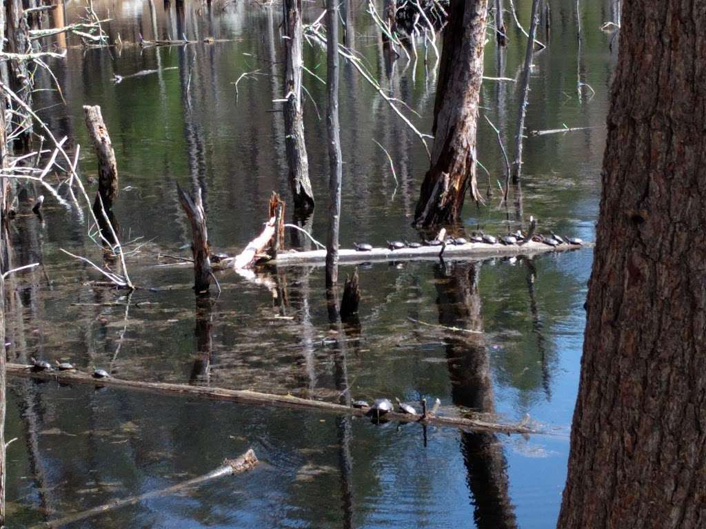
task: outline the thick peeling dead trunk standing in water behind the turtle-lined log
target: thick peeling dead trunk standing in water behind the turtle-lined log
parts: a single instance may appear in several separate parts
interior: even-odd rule
[[[488,0],[451,0],[436,88],[431,167],[414,213],[417,226],[459,219],[469,186],[474,200],[481,200],[476,128],[487,15]]]

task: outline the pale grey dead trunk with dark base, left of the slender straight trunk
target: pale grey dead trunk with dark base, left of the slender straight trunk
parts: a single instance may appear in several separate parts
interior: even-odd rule
[[[294,196],[294,209],[311,211],[313,191],[309,181],[309,161],[304,142],[304,114],[301,109],[302,25],[301,0],[282,2],[285,18],[285,146],[289,165],[289,186]]]

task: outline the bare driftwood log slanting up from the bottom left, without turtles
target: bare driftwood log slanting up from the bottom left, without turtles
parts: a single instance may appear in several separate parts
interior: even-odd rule
[[[253,449],[249,449],[245,454],[235,458],[226,459],[223,461],[222,466],[212,470],[208,474],[198,476],[198,478],[193,478],[192,480],[179,483],[177,485],[172,485],[172,487],[167,487],[160,490],[153,490],[151,492],[145,492],[145,494],[140,494],[139,496],[131,496],[124,499],[114,499],[107,504],[93,507],[86,511],[81,511],[80,513],[68,514],[67,516],[62,516],[61,518],[56,518],[55,520],[49,520],[47,522],[38,523],[34,525],[32,529],[40,528],[59,528],[68,525],[69,523],[74,523],[80,520],[85,520],[86,518],[92,518],[93,516],[98,516],[100,514],[106,513],[108,511],[113,511],[114,509],[120,509],[121,507],[126,507],[129,505],[136,505],[141,501],[146,499],[152,499],[162,496],[170,496],[173,494],[184,492],[187,489],[196,487],[210,480],[216,478],[222,478],[223,476],[236,475],[247,472],[251,470],[258,463],[258,458],[255,455]]]

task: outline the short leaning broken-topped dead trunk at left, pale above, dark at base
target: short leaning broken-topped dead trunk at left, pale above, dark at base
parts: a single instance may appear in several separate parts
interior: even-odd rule
[[[118,195],[118,167],[115,161],[115,152],[100,107],[86,105],[83,107],[83,112],[88,135],[93,141],[98,159],[98,193],[95,202],[93,202],[93,213],[104,239],[115,244],[118,241],[114,241],[112,229],[108,224],[109,222],[113,225],[117,234],[118,229],[112,212],[113,202]],[[106,217],[108,221],[106,221]]]

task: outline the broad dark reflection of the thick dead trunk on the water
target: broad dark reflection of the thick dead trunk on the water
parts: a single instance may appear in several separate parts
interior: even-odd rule
[[[483,330],[478,290],[480,265],[436,265],[436,303],[439,323],[472,331]],[[451,396],[457,406],[481,413],[495,411],[490,360],[483,334],[455,333],[445,339]],[[503,448],[495,434],[463,432],[461,447],[468,486],[479,529],[516,528],[508,496],[508,473]]]

